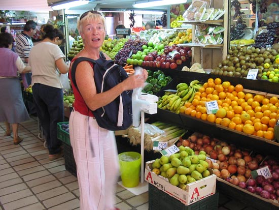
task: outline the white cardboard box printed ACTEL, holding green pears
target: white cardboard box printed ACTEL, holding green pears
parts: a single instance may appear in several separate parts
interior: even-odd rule
[[[215,194],[217,176],[212,174],[199,181],[190,183],[186,186],[186,190],[182,190],[177,186],[173,186],[168,182],[167,178],[156,175],[152,172],[153,161],[146,162],[145,180],[154,185],[159,190],[178,199],[185,205],[191,205],[199,200]]]

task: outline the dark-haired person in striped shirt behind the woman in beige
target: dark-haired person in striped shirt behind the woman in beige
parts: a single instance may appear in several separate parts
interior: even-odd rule
[[[32,37],[37,31],[37,23],[33,20],[28,20],[24,25],[23,32],[16,38],[16,52],[20,56],[22,62],[27,66],[28,57],[31,48],[33,47]],[[22,81],[25,88],[31,84],[31,73],[22,75]]]

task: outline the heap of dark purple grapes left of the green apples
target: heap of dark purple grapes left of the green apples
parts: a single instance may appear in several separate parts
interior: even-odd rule
[[[129,39],[123,46],[121,50],[115,55],[115,63],[118,65],[125,65],[127,59],[129,58],[129,54],[136,54],[137,51],[142,51],[142,46],[147,45],[146,40],[140,40],[140,38]]]

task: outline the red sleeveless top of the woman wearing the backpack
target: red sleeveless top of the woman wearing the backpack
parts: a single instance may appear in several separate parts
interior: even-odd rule
[[[72,61],[71,61],[71,66],[72,66],[72,63],[77,59],[76,58],[73,58]],[[93,68],[93,65],[90,64]],[[86,115],[86,116],[94,116],[92,111],[88,108],[88,106],[86,105],[85,101],[83,100],[80,92],[78,91],[77,87],[75,86],[75,84],[72,82],[72,74],[71,74],[71,67],[70,67],[70,70],[69,70],[69,78],[71,80],[71,84],[72,84],[72,88],[73,88],[73,92],[74,92],[74,96],[75,96],[75,103],[74,103],[74,108],[75,110],[77,110],[78,112],[80,112],[81,114],[83,115]]]

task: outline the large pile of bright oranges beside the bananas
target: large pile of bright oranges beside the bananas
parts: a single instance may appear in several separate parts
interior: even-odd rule
[[[219,110],[207,114],[205,102],[216,100]],[[247,134],[274,139],[274,125],[279,118],[277,97],[266,98],[243,91],[241,84],[231,85],[220,78],[209,78],[195,93],[192,103],[186,102],[181,112],[204,121],[220,124]]]

